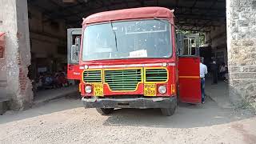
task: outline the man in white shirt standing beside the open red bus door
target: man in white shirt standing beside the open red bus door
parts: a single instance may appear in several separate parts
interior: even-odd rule
[[[200,79],[201,79],[201,93],[202,93],[202,103],[205,103],[205,76],[207,74],[207,66],[203,64],[203,58],[200,58]]]

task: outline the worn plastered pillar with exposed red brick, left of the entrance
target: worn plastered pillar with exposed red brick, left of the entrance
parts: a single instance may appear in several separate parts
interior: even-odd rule
[[[6,32],[6,80],[11,110],[22,110],[33,100],[27,77],[30,35],[26,0],[0,0],[0,31]]]

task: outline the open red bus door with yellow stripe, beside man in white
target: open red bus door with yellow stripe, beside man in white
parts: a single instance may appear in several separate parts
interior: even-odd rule
[[[177,40],[179,101],[201,103],[199,34],[178,34]]]

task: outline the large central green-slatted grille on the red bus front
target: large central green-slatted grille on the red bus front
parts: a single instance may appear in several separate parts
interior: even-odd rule
[[[138,82],[142,82],[142,71],[105,70],[105,82],[110,86],[110,90],[135,90]]]

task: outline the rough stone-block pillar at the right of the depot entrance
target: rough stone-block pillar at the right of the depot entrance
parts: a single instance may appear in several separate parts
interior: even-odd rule
[[[226,0],[230,99],[256,109],[256,0]]]

